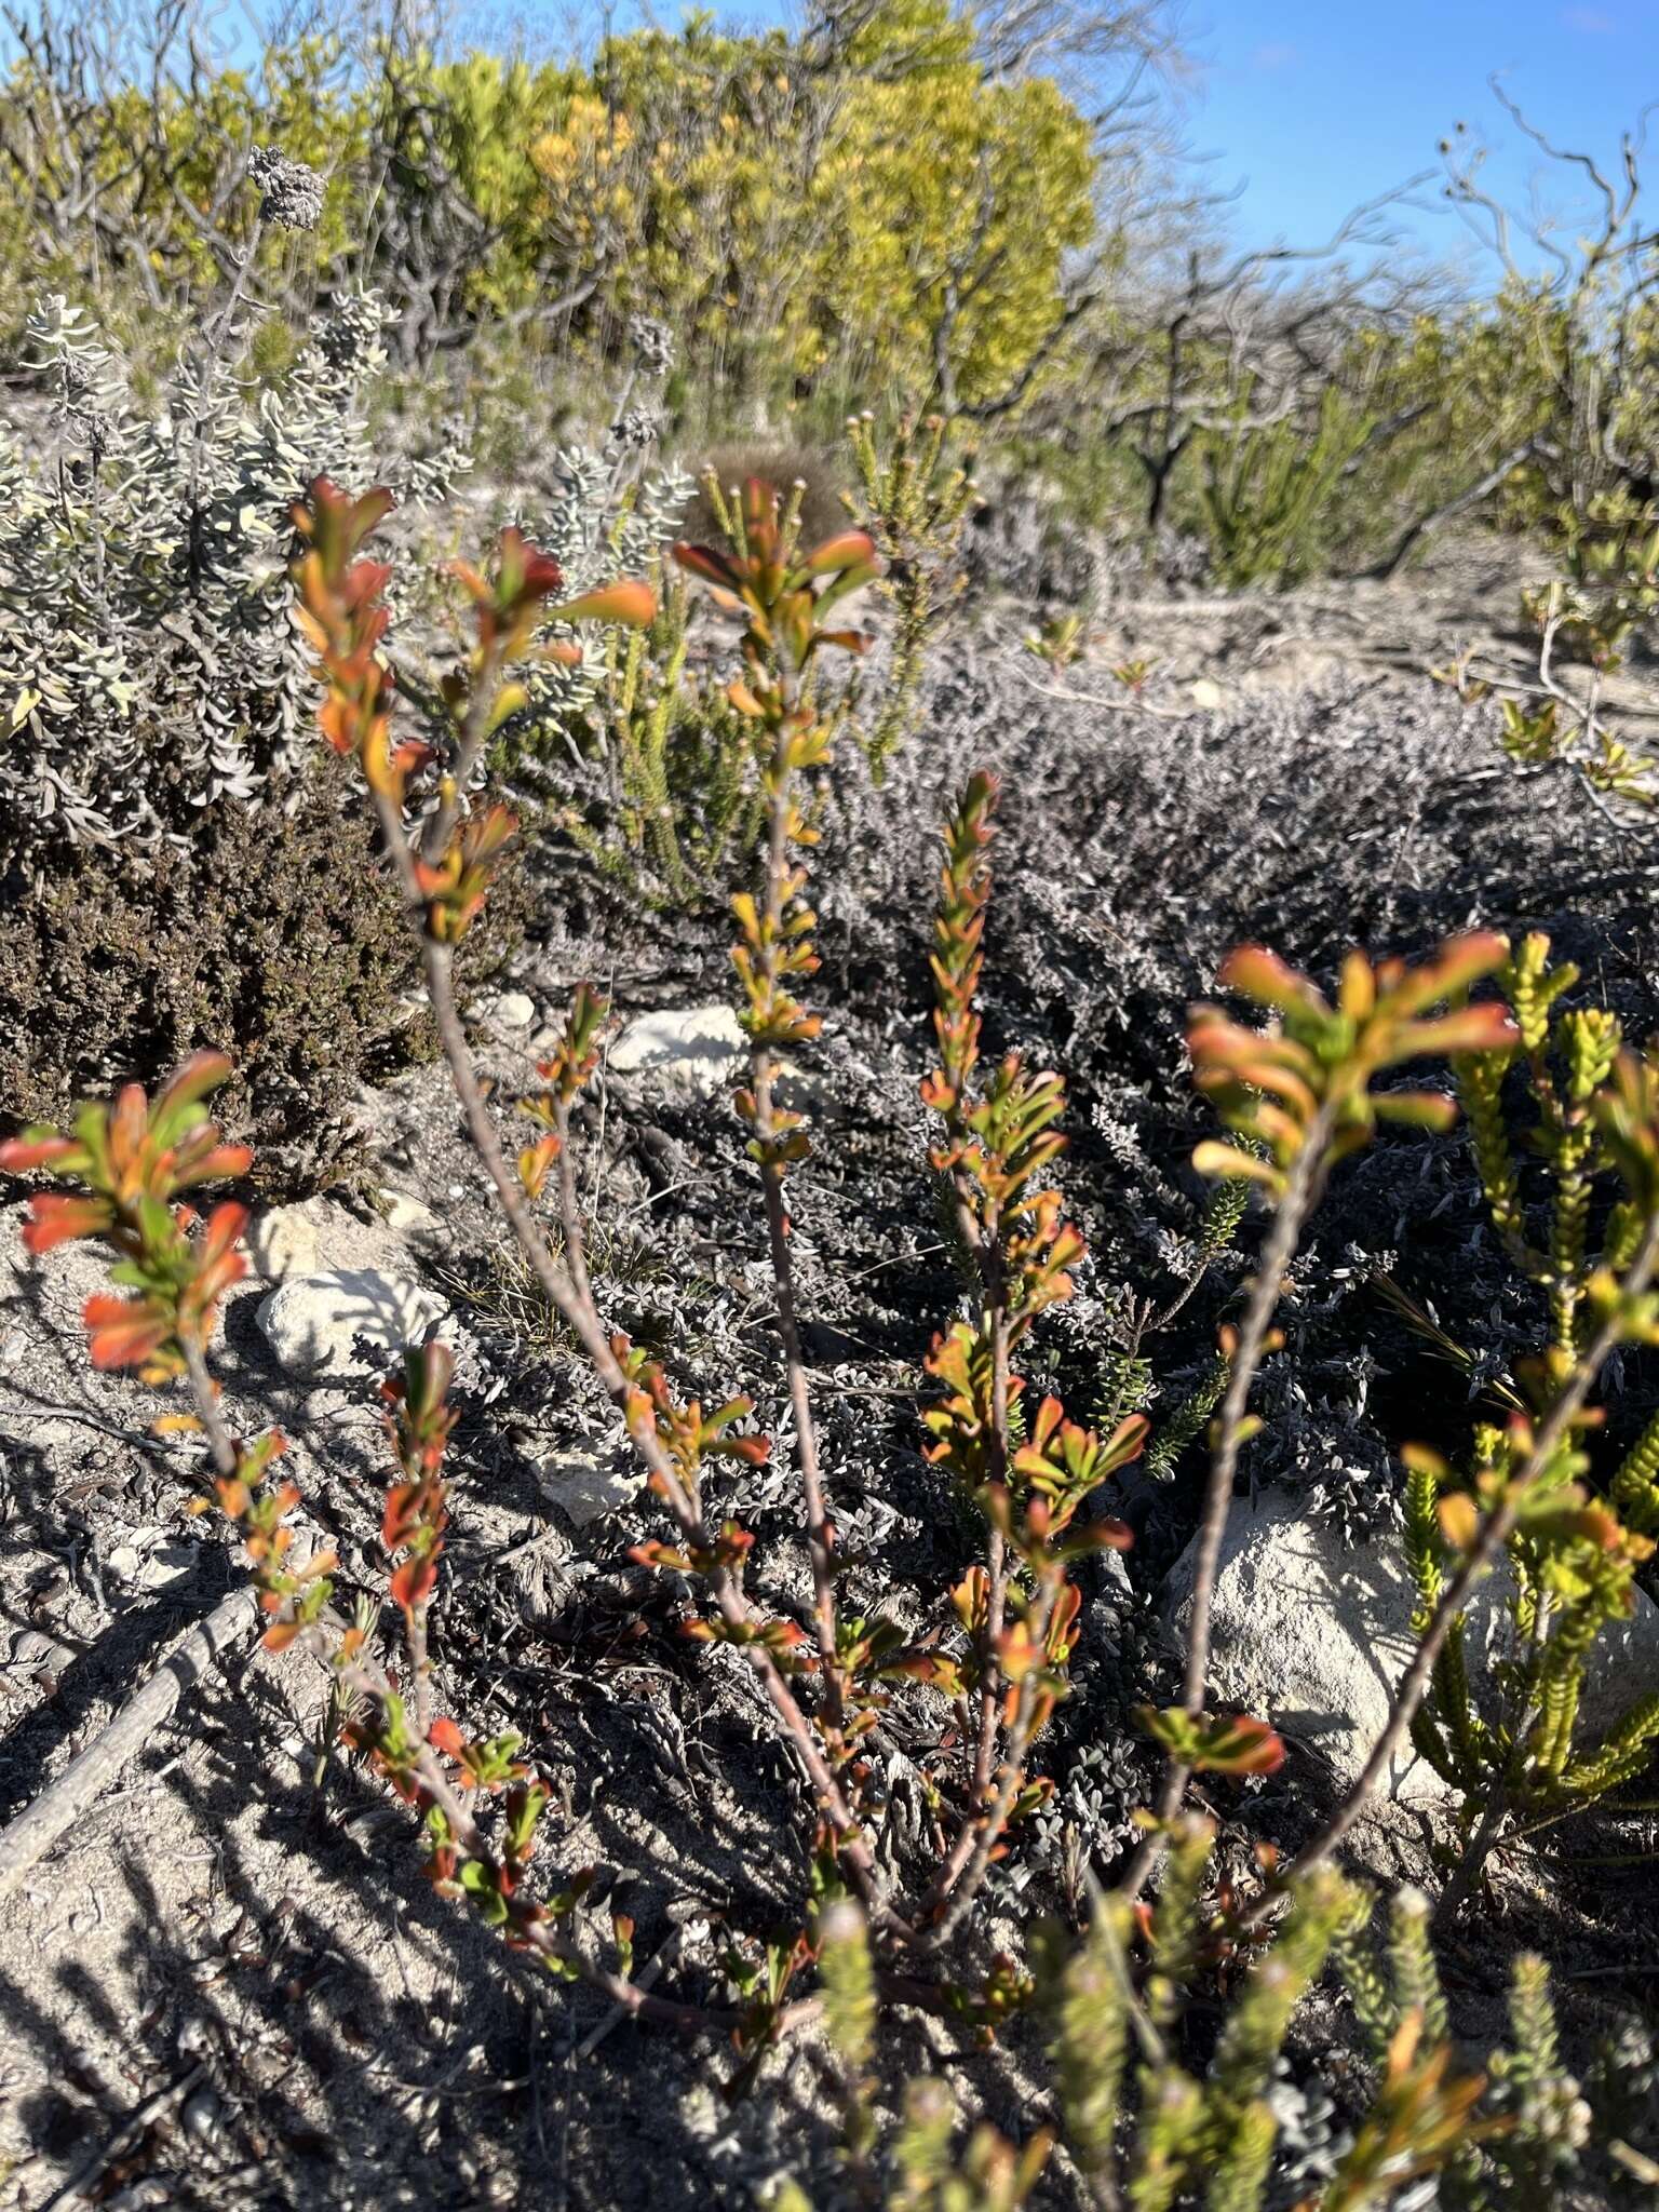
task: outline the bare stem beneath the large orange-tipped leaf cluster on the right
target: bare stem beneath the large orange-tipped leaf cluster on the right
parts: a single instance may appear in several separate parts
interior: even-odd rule
[[[1272,1237],[1263,1254],[1261,1272],[1250,1285],[1250,1303],[1239,1329],[1239,1349],[1232,1356],[1228,1394],[1221,1400],[1221,1438],[1210,1460],[1210,1486],[1203,1498],[1203,1520],[1199,1524],[1199,1555],[1192,1566],[1192,1621],[1188,1628],[1186,1679],[1181,1686],[1181,1710],[1197,1719],[1203,1712],[1206,1674],[1210,1668],[1210,1613],[1214,1608],[1214,1582],[1221,1566],[1221,1544],[1228,1533],[1232,1511],[1232,1480],[1239,1471],[1239,1427],[1250,1402],[1250,1385],[1256,1380],[1261,1352],[1267,1340],[1267,1325],[1279,1307],[1285,1270],[1296,1256],[1303,1223],[1318,1197],[1325,1172],[1325,1146],[1332,1135],[1332,1104],[1325,1102],[1307,1128],[1307,1141],[1296,1155],[1296,1166],[1285,1186],[1274,1214]],[[1124,1893],[1137,1898],[1161,1849],[1164,1829],[1181,1809],[1192,1767],[1170,1754],[1164,1770],[1164,1790],[1157,1801],[1157,1825],[1148,1829],[1124,1876]]]

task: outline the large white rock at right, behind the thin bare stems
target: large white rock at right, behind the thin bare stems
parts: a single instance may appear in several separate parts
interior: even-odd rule
[[[1192,1546],[1175,1562],[1166,1610],[1186,1632],[1192,1613]],[[1469,1606],[1469,1677],[1475,1694],[1504,1657],[1504,1571]],[[1210,1683],[1219,1708],[1272,1721],[1312,1743],[1338,1787],[1365,1765],[1416,1641],[1413,1584],[1396,1537],[1345,1551],[1340,1535],[1305,1517],[1287,1491],[1265,1491],[1254,1511],[1232,1504],[1212,1610]],[[1579,1705],[1582,1728],[1617,1721],[1644,1686],[1659,1681],[1659,1606],[1637,1590],[1637,1610],[1597,1641]],[[1447,1785],[1409,1743],[1383,1790],[1400,1803],[1433,1803]]]

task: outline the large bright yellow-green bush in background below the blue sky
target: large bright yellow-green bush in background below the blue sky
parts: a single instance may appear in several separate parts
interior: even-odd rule
[[[993,82],[945,0],[891,0],[832,71],[703,15],[613,40],[533,159],[564,221],[624,248],[613,305],[739,389],[832,358],[925,389],[945,330],[960,398],[995,392],[1093,226],[1084,117],[1048,80]]]

